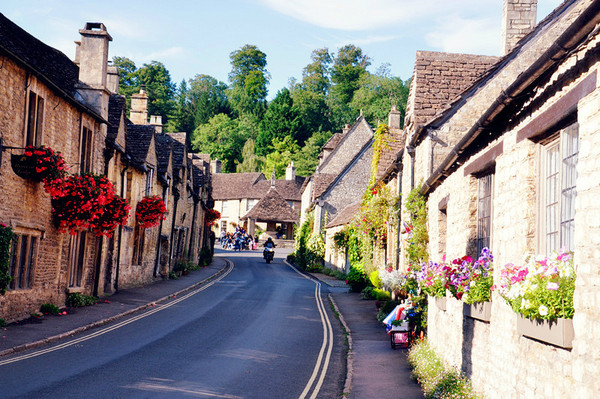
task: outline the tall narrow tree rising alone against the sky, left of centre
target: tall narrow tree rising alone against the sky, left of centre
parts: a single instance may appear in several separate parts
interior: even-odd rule
[[[262,117],[266,109],[267,55],[258,47],[246,44],[229,55],[229,97],[239,115],[254,114]]]

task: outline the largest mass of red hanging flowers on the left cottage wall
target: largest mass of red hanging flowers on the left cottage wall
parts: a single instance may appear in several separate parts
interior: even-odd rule
[[[97,236],[111,236],[117,225],[126,223],[128,212],[129,205],[115,196],[106,176],[69,175],[52,198],[52,214],[63,233],[91,229]]]

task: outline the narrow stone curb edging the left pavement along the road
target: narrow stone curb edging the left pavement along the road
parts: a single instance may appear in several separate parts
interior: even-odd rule
[[[64,332],[64,333],[61,333],[61,334],[53,335],[51,337],[44,338],[44,339],[41,339],[41,340],[38,340],[38,341],[29,342],[27,344],[22,344],[22,345],[19,345],[19,346],[15,346],[13,348],[5,349],[5,350],[3,350],[3,351],[0,352],[0,357],[4,357],[4,356],[12,355],[12,354],[15,354],[15,353],[23,352],[23,351],[26,351],[26,350],[29,350],[29,349],[37,348],[39,346],[46,345],[46,344],[52,343],[54,341],[58,341],[58,340],[61,340],[61,339],[64,339],[64,338],[68,338],[68,337],[70,337],[72,335],[79,334],[79,333],[85,332],[87,330],[91,330],[92,328],[96,328],[96,327],[100,327],[100,326],[103,326],[103,325],[108,324],[108,323],[112,323],[113,321],[116,321],[116,320],[121,319],[123,317],[127,317],[127,316],[129,316],[129,315],[131,315],[133,313],[136,313],[136,312],[142,311],[144,309],[147,309],[147,308],[149,308],[151,306],[154,306],[157,303],[164,302],[164,301],[166,301],[169,298],[172,298],[174,296],[179,296],[179,295],[183,294],[184,292],[187,292],[187,291],[193,290],[195,288],[198,288],[199,286],[204,285],[204,284],[208,283],[209,281],[211,281],[211,280],[219,277],[221,274],[223,274],[225,272],[225,270],[229,267],[229,263],[228,262],[230,262],[230,261],[228,259],[225,259],[225,258],[222,258],[222,259],[225,261],[225,266],[223,266],[215,274],[213,274],[213,275],[205,278],[202,281],[194,283],[194,284],[192,284],[191,286],[189,286],[187,288],[183,288],[183,289],[181,289],[181,290],[179,290],[177,292],[174,292],[174,293],[171,293],[169,295],[166,295],[166,296],[164,296],[162,298],[159,298],[159,299],[157,299],[155,301],[149,302],[149,303],[147,303],[145,305],[140,305],[137,308],[127,310],[127,311],[125,311],[123,313],[119,313],[119,314],[116,314],[114,316],[107,317],[106,319],[98,320],[96,322],[93,322],[93,323],[85,325],[85,326],[77,327],[77,328],[75,328],[75,329],[73,329],[71,331],[67,331],[67,332]]]

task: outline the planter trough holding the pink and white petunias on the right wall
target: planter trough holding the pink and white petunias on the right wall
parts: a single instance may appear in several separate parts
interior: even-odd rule
[[[517,332],[524,336],[538,341],[546,342],[561,348],[571,349],[573,347],[572,319],[549,320],[530,320],[523,316],[517,318]]]

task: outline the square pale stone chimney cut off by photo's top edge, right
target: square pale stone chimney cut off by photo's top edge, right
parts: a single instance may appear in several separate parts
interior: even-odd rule
[[[537,0],[504,0],[502,10],[503,54],[533,30],[537,19]]]

